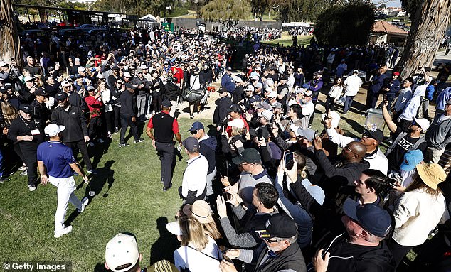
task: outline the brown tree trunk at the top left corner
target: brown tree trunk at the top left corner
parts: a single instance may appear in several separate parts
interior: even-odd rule
[[[0,60],[11,62],[11,58],[14,58],[17,65],[22,67],[20,48],[11,1],[0,0]]]

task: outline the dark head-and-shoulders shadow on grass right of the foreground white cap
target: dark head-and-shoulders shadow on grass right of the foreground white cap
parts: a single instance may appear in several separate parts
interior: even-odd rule
[[[156,219],[156,229],[158,229],[160,236],[150,248],[150,265],[161,260],[174,263],[174,251],[179,248],[180,242],[174,234],[166,229],[166,224],[168,224],[167,217]]]

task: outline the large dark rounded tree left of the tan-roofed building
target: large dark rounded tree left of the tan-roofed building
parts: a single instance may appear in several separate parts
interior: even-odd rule
[[[370,2],[329,6],[315,21],[314,36],[327,45],[364,45],[376,19]]]

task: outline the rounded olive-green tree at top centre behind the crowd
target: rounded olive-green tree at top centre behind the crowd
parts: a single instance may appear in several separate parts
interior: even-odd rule
[[[236,26],[250,14],[250,4],[246,0],[213,0],[202,7],[200,16],[205,21],[217,21],[227,29]]]

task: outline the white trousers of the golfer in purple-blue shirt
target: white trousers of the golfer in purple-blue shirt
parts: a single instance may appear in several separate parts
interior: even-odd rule
[[[55,185],[57,190],[58,204],[55,212],[55,233],[64,229],[65,213],[68,210],[68,203],[72,203],[76,208],[81,208],[81,201],[73,193],[75,191],[75,180],[69,178],[48,177],[48,181]]]

